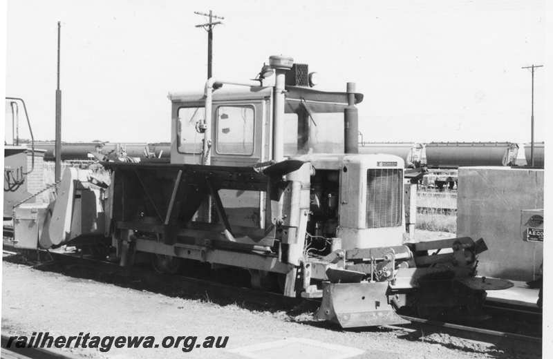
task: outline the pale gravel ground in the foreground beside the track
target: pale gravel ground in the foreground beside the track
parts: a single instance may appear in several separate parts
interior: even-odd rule
[[[523,348],[498,348],[482,342],[443,334],[421,336],[402,330],[368,329],[342,331],[304,321],[305,315],[290,318],[284,311],[254,311],[236,304],[219,305],[207,300],[171,298],[28,266],[3,262],[2,333],[29,335],[49,331],[53,335],[90,332],[98,336],[229,336],[225,349],[71,349],[82,358],[245,358],[230,350],[299,338],[317,343],[288,343],[288,350],[267,349],[261,356],[326,358],[337,356],[326,344],[360,349],[355,358],[539,358]],[[302,323],[303,322],[303,323]],[[70,349],[64,349],[66,351]],[[319,351],[319,354],[316,353]],[[523,353],[523,354],[522,354]],[[334,356],[332,356],[332,355]],[[354,357],[352,357],[354,358]]]

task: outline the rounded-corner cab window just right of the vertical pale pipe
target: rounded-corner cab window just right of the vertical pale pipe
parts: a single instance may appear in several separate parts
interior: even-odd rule
[[[229,155],[254,153],[254,115],[253,106],[217,108],[217,153]]]

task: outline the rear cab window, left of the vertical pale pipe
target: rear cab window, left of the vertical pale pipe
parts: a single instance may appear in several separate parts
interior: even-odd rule
[[[196,131],[196,124],[203,121],[203,107],[181,107],[178,109],[178,151],[185,153],[201,153],[203,134]]]

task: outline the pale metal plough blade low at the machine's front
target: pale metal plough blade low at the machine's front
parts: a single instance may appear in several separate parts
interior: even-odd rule
[[[387,289],[388,282],[324,283],[316,317],[342,328],[408,323],[388,304]]]

